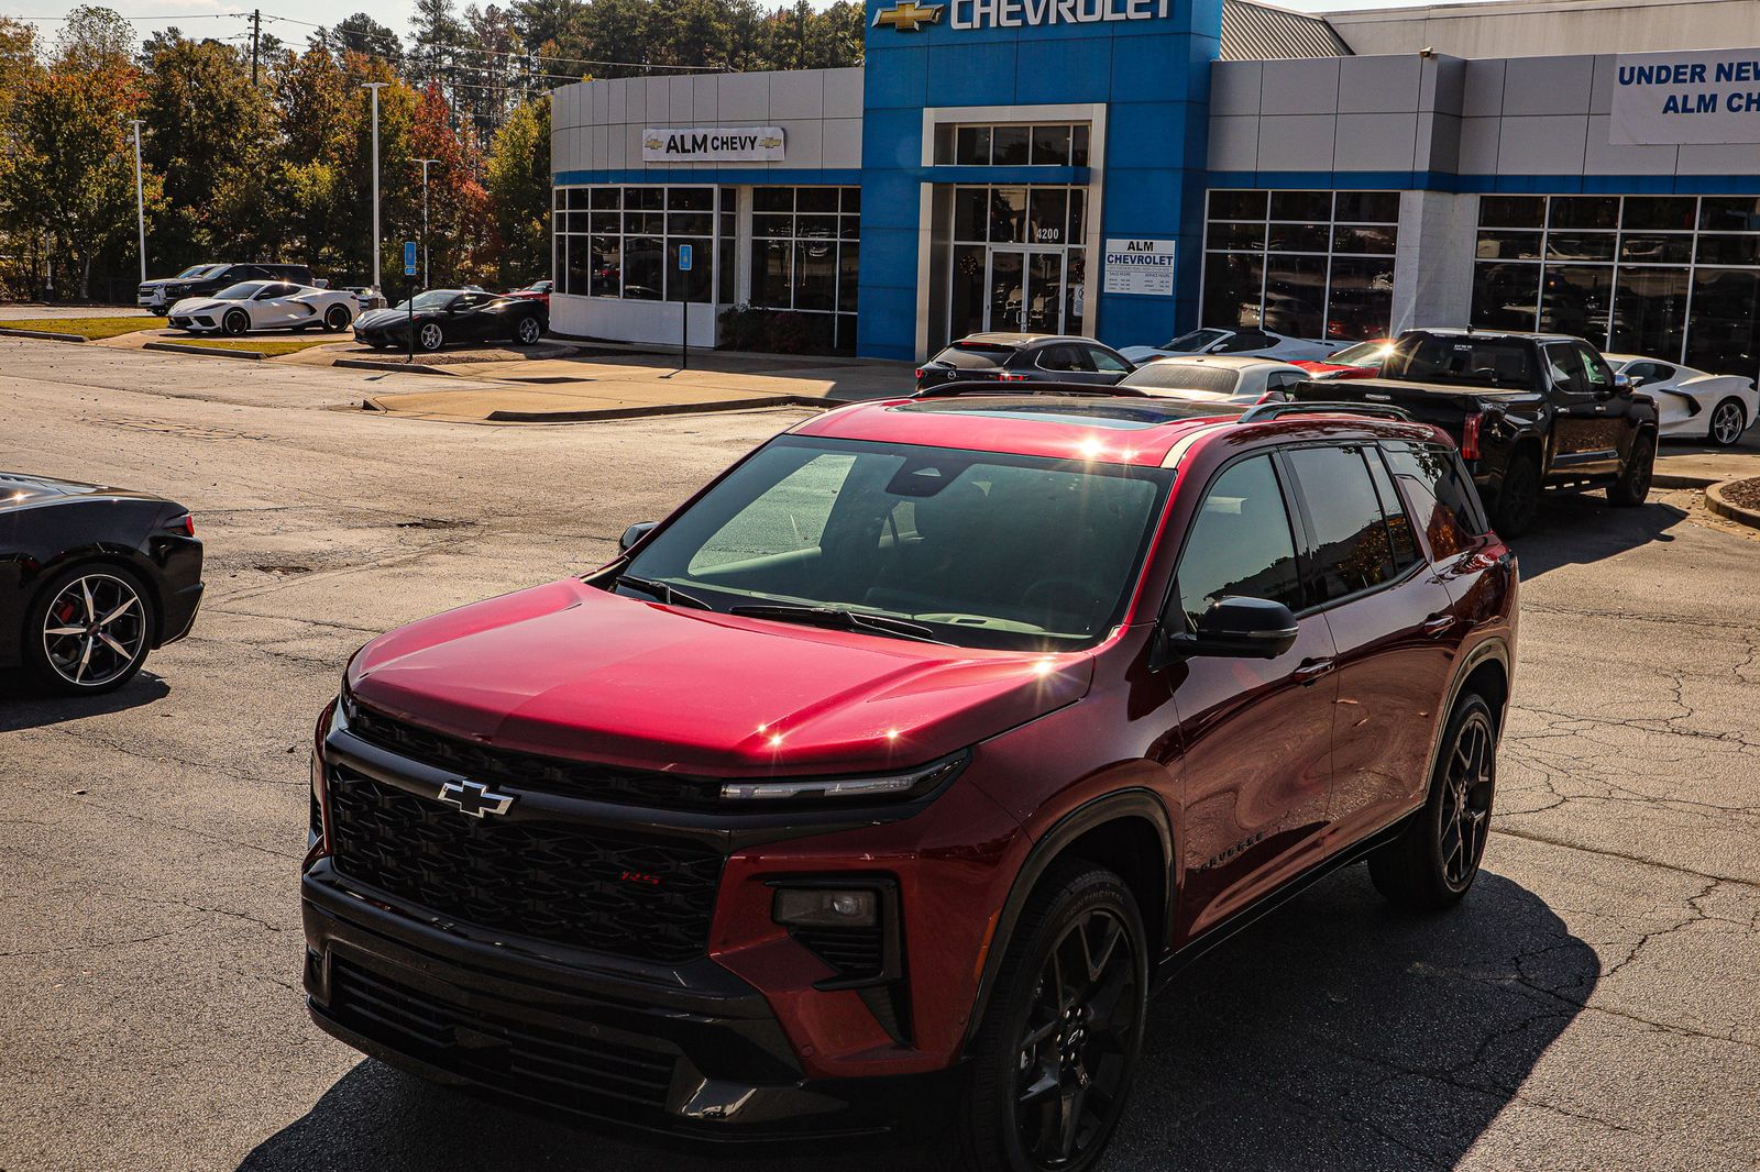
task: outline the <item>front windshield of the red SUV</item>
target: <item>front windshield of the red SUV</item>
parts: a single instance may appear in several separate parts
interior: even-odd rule
[[[716,611],[818,607],[794,618],[1070,651],[1123,618],[1169,482],[1160,468],[783,436],[656,533],[621,581]]]

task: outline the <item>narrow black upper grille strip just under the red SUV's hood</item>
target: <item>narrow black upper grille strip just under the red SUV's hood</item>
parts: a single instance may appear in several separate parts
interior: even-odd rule
[[[722,799],[722,783],[716,778],[690,778],[656,769],[621,769],[473,744],[461,737],[392,720],[368,707],[356,707],[348,718],[348,732],[370,744],[435,769],[458,773],[472,781],[502,781],[560,797],[586,797],[665,809],[715,809]]]

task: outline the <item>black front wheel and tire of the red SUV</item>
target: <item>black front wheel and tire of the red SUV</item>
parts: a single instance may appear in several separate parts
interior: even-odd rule
[[[1125,882],[1082,861],[1052,868],[996,971],[972,1045],[959,1144],[938,1156],[945,1167],[1081,1172],[1098,1163],[1142,1054],[1148,987],[1146,933]]]

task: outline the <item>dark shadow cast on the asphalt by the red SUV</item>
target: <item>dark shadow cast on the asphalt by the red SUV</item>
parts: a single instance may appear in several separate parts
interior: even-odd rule
[[[1492,859],[1494,861],[1494,859]],[[1540,897],[1492,873],[1447,915],[1396,913],[1352,868],[1190,968],[1153,1005],[1104,1168],[1454,1167],[1600,978]],[[868,1142],[722,1158],[634,1144],[428,1086],[343,1075],[241,1172],[917,1168]]]

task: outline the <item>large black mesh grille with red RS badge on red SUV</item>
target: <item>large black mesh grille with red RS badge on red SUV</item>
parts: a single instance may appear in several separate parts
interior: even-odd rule
[[[722,852],[568,822],[472,818],[329,774],[336,869],[466,924],[644,961],[702,956]]]

